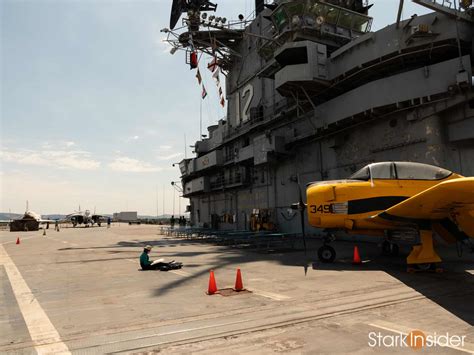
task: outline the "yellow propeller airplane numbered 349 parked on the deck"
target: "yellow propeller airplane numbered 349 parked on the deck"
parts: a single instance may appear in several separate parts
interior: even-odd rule
[[[347,180],[308,184],[310,225],[351,234],[385,238],[385,252],[398,252],[396,240],[410,240],[409,269],[436,268],[441,258],[433,233],[447,242],[474,238],[474,177],[412,162],[381,162],[365,166]],[[327,242],[329,240],[326,240]],[[335,250],[319,248],[323,262]]]

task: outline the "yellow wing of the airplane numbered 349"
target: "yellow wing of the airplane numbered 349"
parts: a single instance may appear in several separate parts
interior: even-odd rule
[[[474,237],[474,178],[459,178],[435,185],[390,207],[371,220],[381,224],[430,225],[447,218]]]

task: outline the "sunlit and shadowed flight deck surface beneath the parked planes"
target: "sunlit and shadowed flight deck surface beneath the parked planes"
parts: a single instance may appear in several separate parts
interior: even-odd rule
[[[474,352],[474,254],[440,248],[444,272],[407,273],[375,243],[338,241],[332,264],[308,251],[219,245],[158,226],[0,232],[1,353]],[[19,244],[16,244],[19,238]],[[184,264],[142,271],[139,255]],[[304,265],[308,269],[305,275]],[[240,268],[249,292],[232,288]],[[418,333],[417,333],[418,334]],[[408,339],[408,340],[407,340]],[[446,340],[446,342],[445,342]]]

